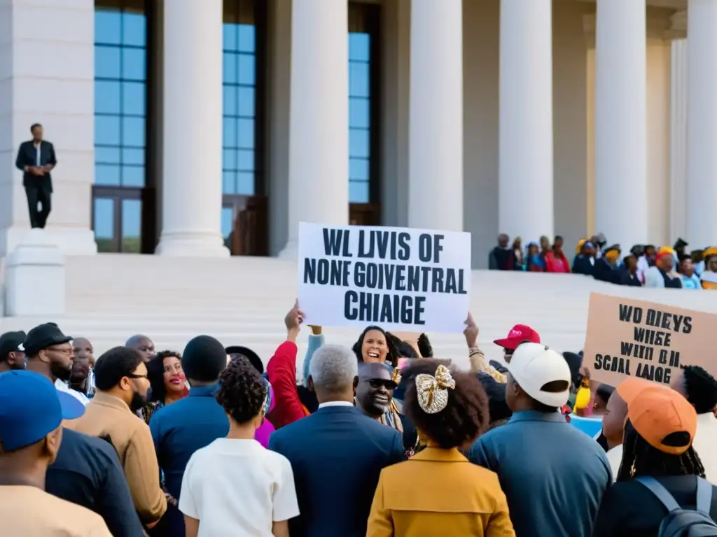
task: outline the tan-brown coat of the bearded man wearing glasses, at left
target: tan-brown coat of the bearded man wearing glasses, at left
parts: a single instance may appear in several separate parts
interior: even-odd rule
[[[85,414],[67,422],[85,435],[109,437],[117,450],[132,500],[143,523],[158,521],[167,510],[167,500],[159,483],[159,465],[149,427],[130,412],[123,400],[98,392],[87,403]]]

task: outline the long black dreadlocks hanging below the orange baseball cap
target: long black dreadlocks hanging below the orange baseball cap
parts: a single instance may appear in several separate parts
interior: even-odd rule
[[[664,442],[666,445],[684,445],[686,438],[681,438],[686,433],[675,432],[668,435]],[[673,442],[670,437],[675,437]],[[680,440],[682,440],[680,442]],[[664,477],[667,475],[698,475],[705,477],[705,468],[702,465],[699,455],[690,445],[682,455],[669,455],[656,448],[653,448],[640,436],[632,427],[630,420],[625,423],[625,436],[622,439],[622,463],[617,471],[616,482],[627,481],[641,476]]]

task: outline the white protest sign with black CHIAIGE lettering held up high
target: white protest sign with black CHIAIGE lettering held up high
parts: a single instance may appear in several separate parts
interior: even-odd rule
[[[305,324],[462,332],[470,233],[299,224]]]

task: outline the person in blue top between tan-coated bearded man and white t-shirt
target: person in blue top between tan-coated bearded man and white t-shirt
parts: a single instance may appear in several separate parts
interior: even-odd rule
[[[181,354],[181,367],[189,380],[189,395],[157,410],[149,420],[166,491],[181,500],[181,483],[189,458],[196,450],[227,436],[229,420],[214,395],[219,374],[227,367],[224,345],[210,336],[191,339]],[[170,504],[159,524],[167,535],[184,535],[184,517]]]

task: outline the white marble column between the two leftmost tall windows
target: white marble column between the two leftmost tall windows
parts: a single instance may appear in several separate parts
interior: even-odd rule
[[[229,256],[222,238],[222,0],[164,3],[165,256]]]

